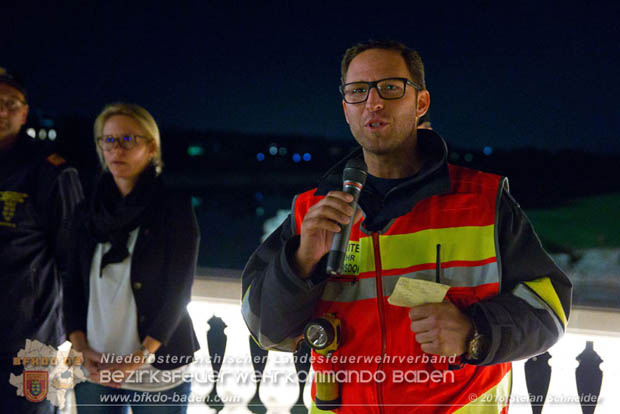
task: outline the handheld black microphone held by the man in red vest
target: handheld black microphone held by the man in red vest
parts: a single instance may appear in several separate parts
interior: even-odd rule
[[[353,196],[353,201],[351,201],[349,205],[355,210],[357,209],[357,200],[360,198],[362,188],[364,188],[364,184],[366,184],[367,176],[368,169],[362,159],[353,158],[349,160],[344,167],[344,173],[342,174],[342,191]],[[342,274],[344,258],[346,256],[347,246],[349,245],[349,237],[351,236],[354,218],[355,213],[353,213],[353,217],[351,217],[349,224],[344,227],[341,226],[342,230],[334,234],[329,256],[327,257],[327,273],[330,275],[337,276]]]

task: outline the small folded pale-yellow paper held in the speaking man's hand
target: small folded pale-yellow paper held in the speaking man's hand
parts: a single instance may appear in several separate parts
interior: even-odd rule
[[[448,289],[450,286],[441,283],[401,277],[396,282],[394,292],[388,298],[388,303],[407,308],[425,303],[439,303],[443,301]]]

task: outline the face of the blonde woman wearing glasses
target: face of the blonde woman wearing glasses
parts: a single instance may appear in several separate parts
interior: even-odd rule
[[[145,137],[138,122],[125,115],[114,115],[103,125],[102,136],[123,138],[127,136]],[[116,179],[137,180],[155,155],[155,144],[152,140],[137,138],[136,146],[131,149],[122,148],[117,142],[109,150],[103,150],[103,157],[110,173]]]

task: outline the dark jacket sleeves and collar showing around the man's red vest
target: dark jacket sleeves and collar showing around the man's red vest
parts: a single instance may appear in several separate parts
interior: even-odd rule
[[[365,213],[363,226],[381,232],[392,219],[409,212],[420,200],[451,191],[445,143],[433,131],[418,130],[418,143],[425,155],[423,169],[385,196],[366,185],[359,204]],[[352,156],[359,156],[361,150]],[[328,171],[316,195],[342,187],[346,159]],[[479,364],[524,359],[544,352],[564,333],[549,307],[523,300],[513,293],[522,282],[548,277],[568,317],[572,286],[540,244],[532,225],[508,188],[501,192],[496,213],[500,294],[467,310],[478,330],[491,338],[486,357]],[[254,252],[242,275],[242,313],[248,328],[261,345],[293,350],[302,329],[312,317],[328,275],[325,259],[311,278],[302,280],[292,270],[299,245],[294,219],[289,217]]]

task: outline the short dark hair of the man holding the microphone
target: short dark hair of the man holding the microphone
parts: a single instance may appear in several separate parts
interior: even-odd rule
[[[355,46],[348,48],[347,51],[344,52],[344,56],[342,57],[342,62],[340,64],[340,81],[342,84],[346,83],[347,71],[349,70],[351,61],[355,58],[355,56],[370,49],[384,49],[400,52],[400,55],[405,60],[405,64],[411,74],[411,80],[420,85],[422,89],[426,89],[426,81],[424,80],[424,63],[422,63],[422,58],[415,50],[409,49],[404,44],[394,40],[369,40],[368,42],[358,43]]]

